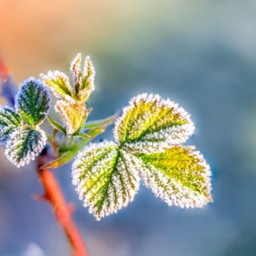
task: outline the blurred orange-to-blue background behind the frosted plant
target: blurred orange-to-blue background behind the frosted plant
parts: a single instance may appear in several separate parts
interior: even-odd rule
[[[140,92],[185,108],[213,171],[203,209],[168,207],[143,186],[134,203],[97,222],[56,169],[92,256],[256,255],[256,2],[253,0],[0,0],[0,53],[18,85],[68,72],[90,55],[97,71],[90,119]],[[1,104],[5,104],[1,100]],[[100,138],[112,139],[112,127]],[[0,255],[68,256],[33,164],[15,169],[0,149]]]

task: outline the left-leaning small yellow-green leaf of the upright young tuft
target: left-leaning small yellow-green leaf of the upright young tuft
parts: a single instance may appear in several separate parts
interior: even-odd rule
[[[50,87],[50,90],[52,90],[55,97],[69,102],[75,102],[73,99],[73,88],[70,86],[69,78],[65,73],[60,71],[49,71],[47,75],[41,74],[40,78],[45,85]]]

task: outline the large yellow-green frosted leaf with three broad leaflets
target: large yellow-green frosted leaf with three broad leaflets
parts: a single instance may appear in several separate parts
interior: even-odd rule
[[[212,201],[210,167],[193,146],[185,110],[159,95],[134,97],[117,119],[114,142],[90,144],[73,163],[73,183],[97,220],[133,201],[140,178],[169,206],[202,207]]]

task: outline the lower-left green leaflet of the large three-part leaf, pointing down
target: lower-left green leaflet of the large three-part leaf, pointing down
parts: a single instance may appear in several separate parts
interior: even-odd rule
[[[73,184],[97,220],[133,201],[139,189],[140,161],[114,142],[90,144],[73,163]]]

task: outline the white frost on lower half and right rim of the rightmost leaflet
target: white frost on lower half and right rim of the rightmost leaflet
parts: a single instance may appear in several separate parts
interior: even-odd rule
[[[184,146],[183,148],[190,149],[191,156],[200,160],[197,164],[204,167],[205,172],[200,175],[206,178],[206,181],[201,181],[201,186],[206,187],[208,197],[198,193],[198,191],[193,191],[193,189],[183,186],[179,181],[164,175],[161,170],[156,169],[155,166],[149,163],[144,164],[143,168],[140,169],[140,174],[142,174],[144,186],[149,188],[157,198],[163,199],[169,206],[174,204],[174,206],[181,208],[202,208],[208,202],[212,201],[210,196],[212,189],[210,184],[210,166],[206,163],[206,160],[199,151],[193,151],[195,149],[194,146]],[[186,169],[183,171],[186,172]],[[198,176],[199,174],[194,175]]]

